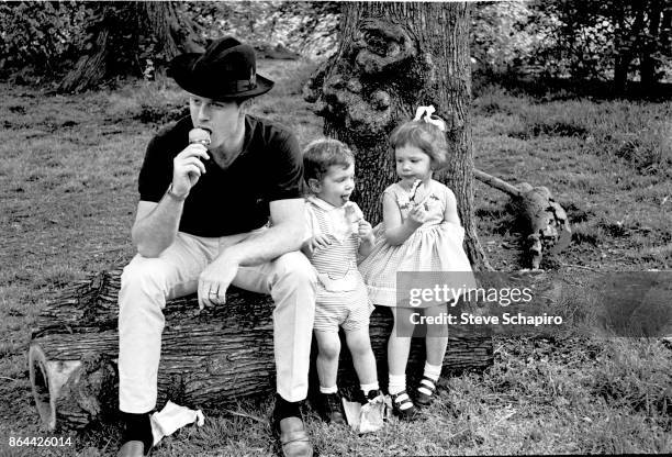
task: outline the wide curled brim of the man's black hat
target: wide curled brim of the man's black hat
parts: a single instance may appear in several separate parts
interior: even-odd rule
[[[198,53],[182,54],[172,59],[168,69],[168,76],[175,79],[179,87],[190,93],[193,93],[194,96],[220,101],[250,99],[268,92],[275,86],[273,81],[257,74],[256,87],[253,89],[226,92],[222,88],[211,87],[199,80],[198,76],[195,76],[191,70],[193,68],[194,60],[201,56],[202,54]]]

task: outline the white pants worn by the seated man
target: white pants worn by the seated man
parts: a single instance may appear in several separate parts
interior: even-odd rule
[[[138,254],[124,268],[119,292],[121,411],[145,413],[156,406],[165,324],[161,310],[166,301],[195,292],[199,275],[222,249],[255,232],[220,238],[180,232],[159,257],[147,258]],[[315,281],[312,265],[299,252],[262,265],[240,267],[233,281],[236,287],[269,293],[273,298],[277,391],[287,401],[300,401],[307,394]]]

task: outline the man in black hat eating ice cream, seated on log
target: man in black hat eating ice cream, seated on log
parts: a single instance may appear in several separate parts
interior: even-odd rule
[[[138,254],[119,294],[126,423],[119,456],[152,447],[166,301],[195,291],[201,306],[225,305],[229,285],[273,298],[273,430],[287,456],[310,456],[299,405],[307,394],[316,279],[296,250],[305,223],[298,141],[244,113],[245,100],[273,86],[256,74],[251,46],[217,40],[203,54],[176,57],[169,75],[189,93],[191,115],[150,141],[139,174]],[[210,132],[210,144],[189,144],[193,129],[203,140]]]

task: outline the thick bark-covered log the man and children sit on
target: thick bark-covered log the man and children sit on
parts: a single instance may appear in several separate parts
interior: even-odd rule
[[[48,431],[79,430],[116,414],[120,276],[120,270],[103,271],[77,282],[37,319],[29,370],[37,412]],[[226,408],[272,393],[272,310],[270,297],[234,288],[225,305],[204,312],[199,312],[195,296],[169,302],[158,375],[159,405],[170,399],[192,408]],[[383,386],[391,328],[390,311],[377,309],[370,334]],[[421,343],[414,338],[410,372],[422,372]],[[489,336],[467,331],[450,335],[444,360],[447,372],[482,370],[492,360]],[[314,379],[314,366],[311,371]],[[341,353],[339,383],[357,384],[347,350]]]

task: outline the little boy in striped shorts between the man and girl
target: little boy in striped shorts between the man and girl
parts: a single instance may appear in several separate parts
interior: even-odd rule
[[[320,409],[325,421],[344,423],[336,386],[338,326],[345,331],[363,397],[373,400],[380,395],[369,339],[373,305],[357,269],[357,257],[366,257],[373,247],[373,230],[349,200],[355,189],[355,157],[345,144],[336,140],[309,144],[303,166],[311,191],[306,198],[311,237],[302,250],[317,271],[313,331],[318,348]]]

